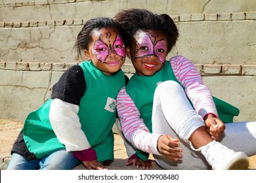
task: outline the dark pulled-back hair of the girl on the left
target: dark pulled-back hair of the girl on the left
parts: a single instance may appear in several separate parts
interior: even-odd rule
[[[119,35],[123,38],[123,31],[121,31],[121,27],[117,22],[114,22],[112,18],[106,17],[97,17],[88,20],[83,28],[77,35],[77,39],[75,41],[74,48],[77,50],[77,54],[81,56],[81,52],[83,50],[89,50],[89,44],[93,41],[92,34],[94,31],[98,31],[100,29],[114,27],[119,30]]]

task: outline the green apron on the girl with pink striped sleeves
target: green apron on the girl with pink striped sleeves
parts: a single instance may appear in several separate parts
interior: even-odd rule
[[[135,102],[136,107],[140,111],[140,117],[144,120],[144,124],[148,127],[151,133],[154,92],[158,82],[164,82],[166,80],[173,80],[181,85],[174,75],[169,61],[165,61],[163,69],[153,76],[139,76],[135,73],[129,80],[127,86],[125,86],[126,92]],[[224,123],[233,122],[234,116],[238,116],[238,108],[221,99],[217,99],[216,97],[213,97],[213,101],[215,102],[219,118],[223,120]],[[192,105],[191,101],[190,104]],[[136,154],[143,160],[148,159],[148,154],[145,152],[138,150]]]

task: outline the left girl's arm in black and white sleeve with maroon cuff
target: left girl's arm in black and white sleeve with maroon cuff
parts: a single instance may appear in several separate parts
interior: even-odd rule
[[[105,169],[81,130],[78,111],[85,88],[83,69],[79,65],[68,69],[53,86],[49,118],[56,137],[68,152],[73,152],[87,169]]]

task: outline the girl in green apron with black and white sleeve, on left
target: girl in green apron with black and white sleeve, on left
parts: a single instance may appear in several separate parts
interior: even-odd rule
[[[114,160],[116,96],[125,86],[125,47],[119,25],[93,18],[75,48],[88,61],[68,69],[53,93],[30,113],[12,148],[8,169],[106,169]]]

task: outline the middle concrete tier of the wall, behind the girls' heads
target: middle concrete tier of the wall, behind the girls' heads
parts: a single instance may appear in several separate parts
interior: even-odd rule
[[[255,65],[256,12],[174,16],[180,37],[168,57],[194,63]],[[0,22],[4,61],[79,62],[73,46],[86,20]],[[131,63],[127,59],[126,63]]]

